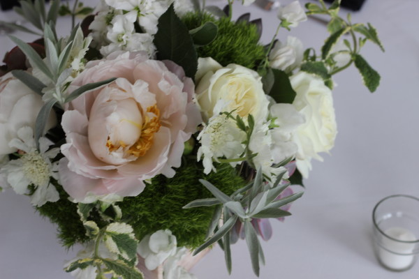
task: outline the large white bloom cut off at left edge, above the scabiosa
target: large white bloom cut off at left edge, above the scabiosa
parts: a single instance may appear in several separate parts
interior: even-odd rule
[[[41,96],[10,73],[0,78],[0,156],[17,151],[9,146],[10,140],[17,138],[17,130],[24,126],[35,128],[36,117],[43,104]],[[52,112],[46,130],[56,123]]]

